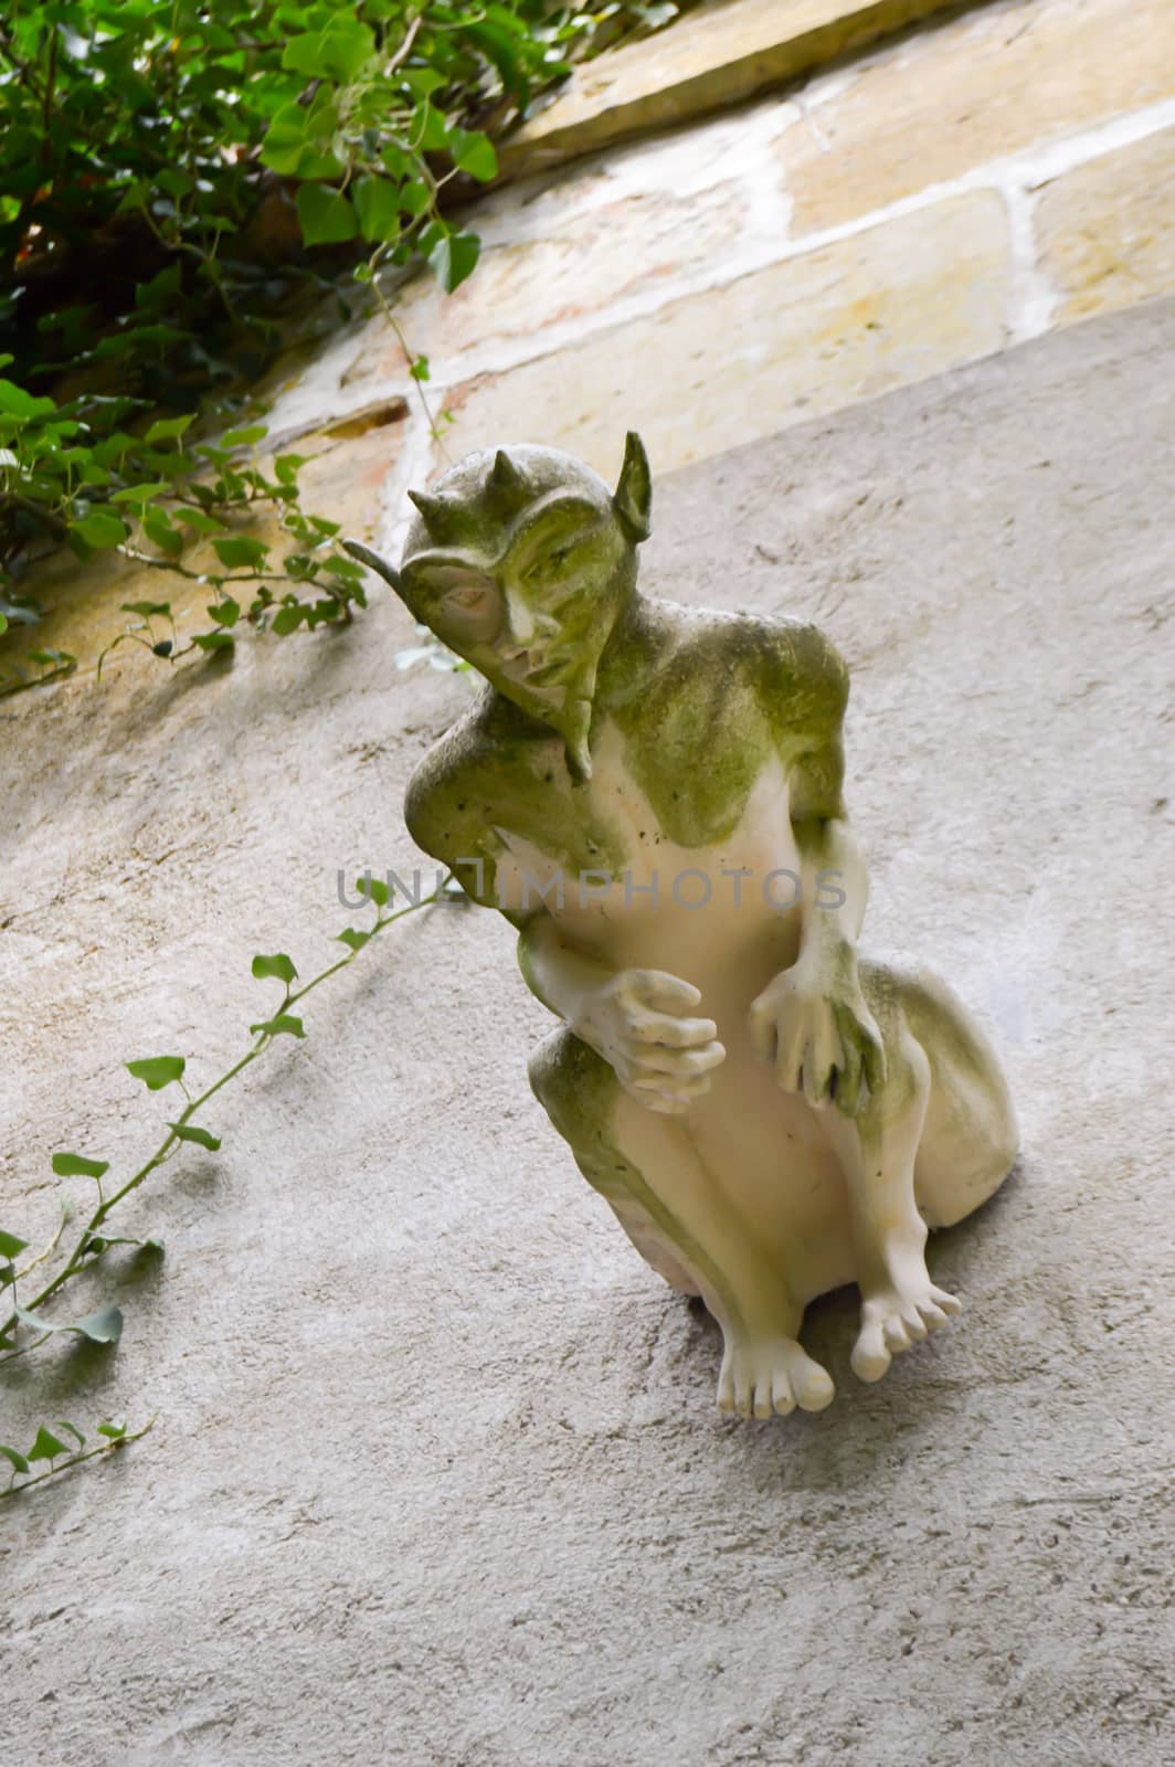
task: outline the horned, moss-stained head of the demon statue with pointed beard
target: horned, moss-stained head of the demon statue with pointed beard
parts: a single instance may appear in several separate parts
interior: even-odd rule
[[[401,595],[443,645],[585,762],[595,668],[636,587],[648,459],[629,433],[620,482],[551,447],[468,454],[426,495]]]

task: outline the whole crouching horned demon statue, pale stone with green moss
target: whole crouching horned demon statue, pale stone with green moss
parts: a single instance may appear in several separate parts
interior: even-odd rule
[[[859,959],[845,664],[813,626],[638,592],[634,435],[615,491],[511,447],[413,502],[399,573],[355,551],[486,687],[417,769],[408,829],[518,928],[562,1020],[535,1094],[643,1256],[717,1316],[719,1405],[816,1410],[807,1301],[859,1283],[853,1368],[878,1378],[958,1311],[928,1225],[1016,1150],[961,1004]]]

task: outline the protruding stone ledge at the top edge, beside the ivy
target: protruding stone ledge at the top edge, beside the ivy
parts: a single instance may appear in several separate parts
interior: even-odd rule
[[[811,72],[952,0],[728,0],[581,67],[511,141],[507,177],[666,129]],[[958,0],[954,0],[958,5]]]

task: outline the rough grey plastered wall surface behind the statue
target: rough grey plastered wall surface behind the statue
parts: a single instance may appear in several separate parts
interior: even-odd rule
[[[12,1760],[1170,1767],[1173,352],[1171,302],[1071,327],[654,500],[652,587],[845,650],[869,949],[1009,1057],[1023,1173],[931,1242],[958,1331],[855,1387],[832,1297],[834,1410],[717,1417],[717,1334],[530,1097],[512,940],[410,917],[133,1200],[168,1255],[115,1255],[120,1348],[9,1375],[5,1442],[159,1412],[0,1504]],[[0,705],[5,1228],[51,1230],[51,1149],[154,1145],[124,1058],[207,1083],[249,956],[311,974],[336,868],[410,862],[468,703],[410,633],[385,595]]]

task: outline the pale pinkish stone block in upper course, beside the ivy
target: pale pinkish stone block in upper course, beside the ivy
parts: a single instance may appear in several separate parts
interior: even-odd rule
[[[670,277],[730,260],[746,230],[751,193],[728,178],[687,196],[650,191],[576,205],[558,193],[534,212],[511,216],[509,239],[482,251],[477,270],[452,295],[429,272],[399,290],[396,323],[433,373],[495,341],[532,337],[574,323],[625,297],[652,293]],[[475,214],[474,224],[479,223]],[[387,383],[405,371],[390,327],[375,320],[362,334],[343,387]]]

